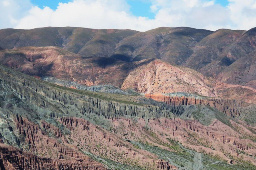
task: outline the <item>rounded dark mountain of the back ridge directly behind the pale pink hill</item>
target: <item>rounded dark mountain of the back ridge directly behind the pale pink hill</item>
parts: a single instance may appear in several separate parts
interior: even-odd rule
[[[124,61],[158,58],[182,65],[193,53],[195,44],[211,33],[186,27],[161,27],[124,39],[117,45],[113,56]]]

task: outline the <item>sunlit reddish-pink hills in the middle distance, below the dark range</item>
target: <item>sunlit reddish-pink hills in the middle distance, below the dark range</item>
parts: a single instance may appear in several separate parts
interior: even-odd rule
[[[225,84],[158,59],[125,62],[114,58],[81,57],[58,47],[23,47],[2,50],[0,60],[29,75],[51,76],[86,86],[109,84],[146,94],[188,92],[248,103],[254,103],[256,98],[253,88]]]

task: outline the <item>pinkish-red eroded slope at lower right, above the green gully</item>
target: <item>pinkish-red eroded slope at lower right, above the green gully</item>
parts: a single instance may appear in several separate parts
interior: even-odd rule
[[[164,149],[182,152],[181,148],[175,146],[174,141],[179,141],[190,149],[205,154],[218,155],[226,161],[235,157],[236,160],[244,159],[253,161],[253,164],[256,163],[253,157],[248,156],[254,155],[256,151],[256,145],[253,141],[256,135],[246,130],[246,125],[235,122],[232,122],[233,128],[218,120],[215,120],[210,126],[203,126],[197,121],[184,121],[178,118],[152,119],[149,122],[140,119],[136,123],[131,120],[120,119],[114,121],[114,125],[118,132],[121,131],[119,129],[122,129],[123,126],[127,127],[121,132],[121,134],[126,134],[125,138],[136,141],[136,137],[139,136],[140,142],[149,143],[151,146],[163,147],[164,145]],[[150,127],[150,130],[145,128],[145,125]],[[245,135],[254,137],[249,139],[244,137]],[[248,153],[248,155],[242,156],[239,154],[241,151]],[[226,153],[233,156],[228,158],[229,156]]]

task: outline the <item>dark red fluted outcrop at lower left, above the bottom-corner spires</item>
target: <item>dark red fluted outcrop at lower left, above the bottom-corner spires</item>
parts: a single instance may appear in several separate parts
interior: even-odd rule
[[[30,152],[41,153],[50,158],[88,158],[79,152],[77,148],[70,147],[60,129],[52,124],[42,121],[41,126],[39,126],[18,115],[15,118],[15,122],[18,138],[21,139],[20,136],[23,138],[23,141],[20,142],[21,146]],[[50,137],[50,134],[53,134],[54,137]],[[28,145],[27,148],[26,145]]]

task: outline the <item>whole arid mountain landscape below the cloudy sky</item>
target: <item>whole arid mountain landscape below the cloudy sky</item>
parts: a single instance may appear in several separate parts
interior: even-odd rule
[[[0,169],[256,169],[256,29],[0,30]]]

